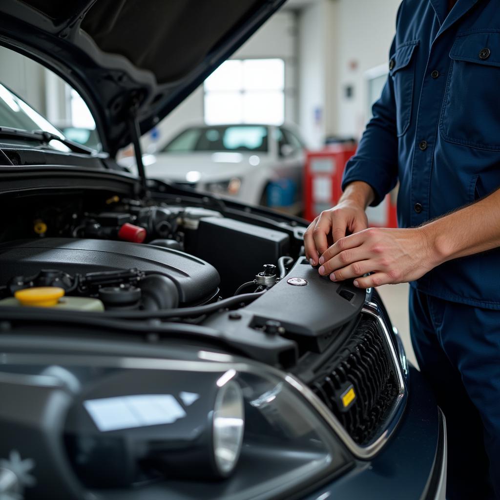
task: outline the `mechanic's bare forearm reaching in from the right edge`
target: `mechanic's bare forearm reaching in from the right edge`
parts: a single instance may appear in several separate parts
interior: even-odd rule
[[[500,246],[500,189],[419,228],[435,265]]]

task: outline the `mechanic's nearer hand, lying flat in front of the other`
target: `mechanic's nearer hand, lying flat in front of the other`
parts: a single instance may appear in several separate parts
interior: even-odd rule
[[[422,229],[372,227],[340,238],[321,255],[319,274],[357,278],[360,288],[413,281],[440,263]],[[358,277],[367,272],[374,274]]]

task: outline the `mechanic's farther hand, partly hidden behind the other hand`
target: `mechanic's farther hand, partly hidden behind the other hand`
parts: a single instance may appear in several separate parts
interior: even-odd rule
[[[347,233],[368,227],[364,207],[356,201],[345,199],[329,210],[322,211],[304,233],[305,256],[311,265],[317,265],[319,256],[329,245]]]

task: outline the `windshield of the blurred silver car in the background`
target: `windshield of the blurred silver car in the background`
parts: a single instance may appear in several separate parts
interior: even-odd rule
[[[268,151],[265,125],[190,127],[173,138],[161,152]]]

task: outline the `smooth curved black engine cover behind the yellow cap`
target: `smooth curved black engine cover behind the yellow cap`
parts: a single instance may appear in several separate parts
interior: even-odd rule
[[[137,268],[169,277],[180,305],[212,297],[220,278],[215,267],[179,250],[103,239],[44,238],[0,244],[0,284],[13,276],[59,269],[69,274]]]

